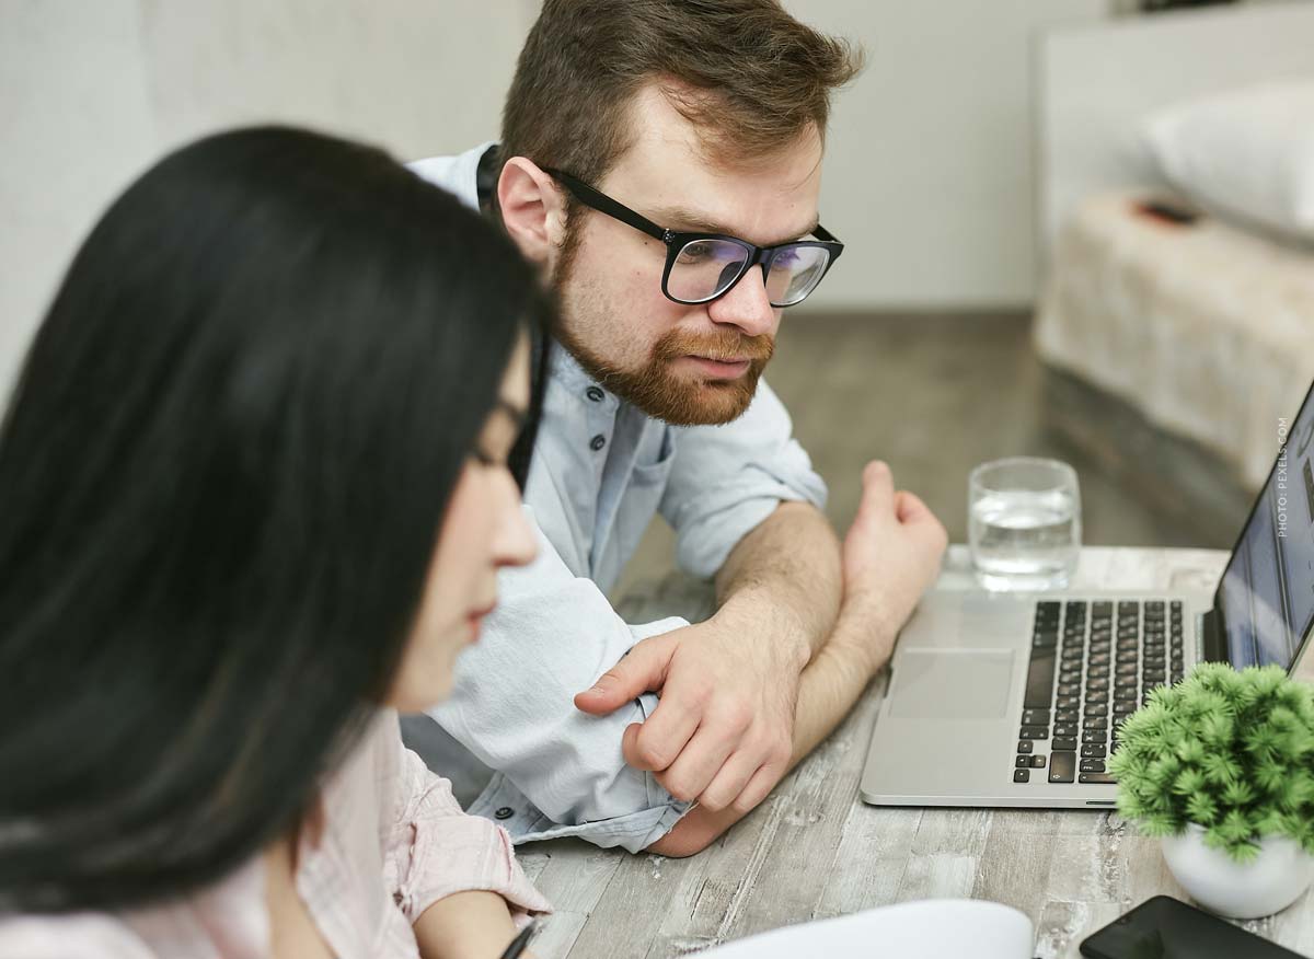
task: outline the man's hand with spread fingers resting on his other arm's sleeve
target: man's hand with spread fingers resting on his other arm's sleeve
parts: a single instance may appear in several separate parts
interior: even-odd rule
[[[756,641],[765,627],[723,608],[706,623],[643,640],[576,705],[607,713],[641,692],[661,692],[653,715],[625,729],[625,762],[656,772],[675,799],[748,812],[790,766],[805,665]]]

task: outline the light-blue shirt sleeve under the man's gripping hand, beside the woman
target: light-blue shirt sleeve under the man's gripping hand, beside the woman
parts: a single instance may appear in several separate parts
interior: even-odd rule
[[[628,766],[620,751],[625,726],[641,723],[657,696],[645,694],[606,716],[581,712],[574,696],[640,640],[689,621],[627,624],[591,579],[570,573],[533,511],[526,507],[526,514],[539,554],[498,575],[497,610],[461,656],[452,696],[430,716],[498,771],[491,793],[532,805],[526,807],[528,820],[518,808],[523,801],[506,800],[499,813],[518,824],[520,838],[572,834],[636,853],[689,809],[650,772]],[[481,797],[472,808],[482,812],[485,805]]]

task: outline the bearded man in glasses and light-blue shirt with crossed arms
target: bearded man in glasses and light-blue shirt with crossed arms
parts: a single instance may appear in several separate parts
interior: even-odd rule
[[[841,550],[759,380],[840,252],[817,196],[855,71],[774,0],[547,0],[501,147],[414,164],[482,201],[561,303],[526,486],[540,557],[432,713],[494,771],[470,811],[518,842],[703,849],[844,717],[936,575],[943,529],[882,464]],[[706,623],[606,599],[658,511],[716,578]]]

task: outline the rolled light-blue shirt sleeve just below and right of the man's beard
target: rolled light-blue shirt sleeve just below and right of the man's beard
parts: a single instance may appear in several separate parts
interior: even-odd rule
[[[675,531],[681,569],[708,579],[782,501],[823,508],[825,498],[825,482],[794,439],[790,414],[761,380],[733,423],[682,431],[660,508]]]

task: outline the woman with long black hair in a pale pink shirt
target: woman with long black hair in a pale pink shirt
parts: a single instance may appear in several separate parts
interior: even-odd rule
[[[218,135],[110,208],[0,435],[0,955],[497,956],[548,908],[394,712],[533,554],[544,319],[353,143]]]

